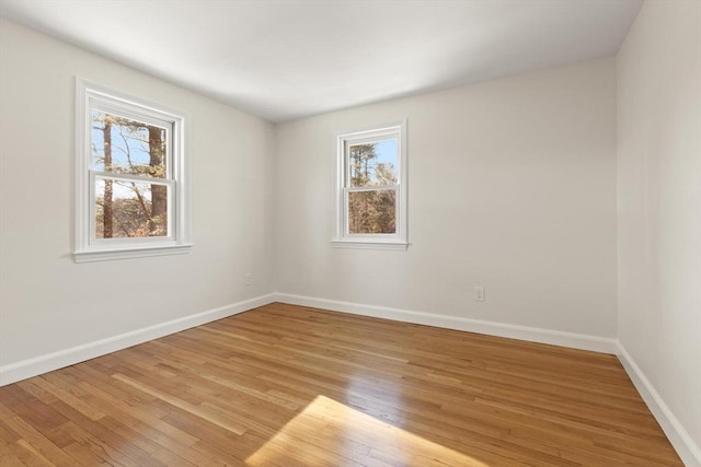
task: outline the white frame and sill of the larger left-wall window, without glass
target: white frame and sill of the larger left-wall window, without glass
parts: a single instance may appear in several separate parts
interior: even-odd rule
[[[173,188],[172,202],[169,203],[169,222],[172,232],[168,237],[93,240],[94,202],[93,178],[100,175],[92,170],[91,148],[91,108],[97,102],[101,108],[124,108],[129,114],[139,114],[143,119],[157,118],[172,122],[171,176],[157,183]],[[140,97],[76,78],[76,238],[73,259],[76,262],[101,261],[112,259],[139,258],[147,256],[176,255],[188,253],[191,243],[191,202],[189,164],[186,154],[189,130],[189,116],[181,110]],[[124,174],[111,174],[118,178],[129,178]],[[170,197],[169,197],[170,199]],[[171,221],[172,219],[172,221]]]

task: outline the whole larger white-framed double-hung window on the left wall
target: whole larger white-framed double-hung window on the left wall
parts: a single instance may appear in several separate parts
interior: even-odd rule
[[[77,80],[77,262],[186,253],[186,117]]]

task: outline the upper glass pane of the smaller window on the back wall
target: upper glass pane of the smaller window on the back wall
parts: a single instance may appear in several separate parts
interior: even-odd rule
[[[348,185],[387,186],[397,184],[399,145],[395,139],[365,144],[349,144]]]

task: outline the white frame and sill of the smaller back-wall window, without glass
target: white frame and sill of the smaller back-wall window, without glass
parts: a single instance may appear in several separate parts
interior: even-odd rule
[[[398,203],[397,203],[397,233],[394,234],[349,234],[347,231],[347,209],[345,202],[346,180],[346,151],[348,143],[363,141],[378,141],[388,136],[398,137],[399,163],[398,174]],[[332,246],[337,248],[367,248],[367,249],[406,249],[409,247],[407,232],[407,184],[406,184],[406,120],[387,125],[374,126],[358,131],[344,131],[335,136],[336,174],[334,198],[334,237]]]

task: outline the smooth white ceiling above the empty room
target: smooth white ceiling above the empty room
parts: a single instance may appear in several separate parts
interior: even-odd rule
[[[640,0],[0,0],[0,14],[285,121],[618,51]]]

